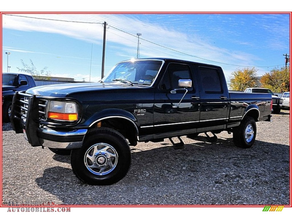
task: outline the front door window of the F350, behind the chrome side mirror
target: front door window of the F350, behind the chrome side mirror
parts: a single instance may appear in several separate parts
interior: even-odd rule
[[[159,88],[167,91],[181,88],[178,86],[179,79],[192,79],[190,67],[188,65],[171,63],[164,73]],[[192,87],[187,89],[188,91],[193,90]]]

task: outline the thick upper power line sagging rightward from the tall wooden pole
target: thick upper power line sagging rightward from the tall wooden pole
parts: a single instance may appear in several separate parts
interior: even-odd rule
[[[101,24],[103,25],[103,23],[100,23],[100,22],[83,22],[83,21],[69,21],[69,20],[57,20],[57,19],[50,19],[50,18],[36,18],[36,17],[29,17],[29,16],[24,16],[24,15],[11,15],[11,14],[4,14],[4,15],[9,15],[9,16],[16,16],[16,17],[24,17],[24,18],[34,18],[34,19],[40,19],[40,20],[53,20],[53,21],[63,21],[63,22],[74,22],[74,23],[86,23],[86,24]],[[124,32],[126,34],[129,34],[131,36],[134,36],[134,37],[137,37],[135,36],[134,34],[131,34],[131,33],[128,33],[124,30],[121,30],[117,27],[113,27],[111,25],[108,25],[109,27],[112,27],[114,29],[117,29],[121,32]],[[165,49],[169,49],[171,51],[174,51],[174,52],[177,52],[177,53],[180,53],[180,54],[183,54],[183,55],[187,55],[187,56],[191,56],[191,57],[194,57],[194,58],[198,58],[198,59],[202,59],[202,60],[206,60],[206,61],[209,61],[209,62],[215,62],[215,63],[219,63],[219,64],[223,64],[223,65],[232,65],[232,66],[238,66],[238,67],[256,67],[256,68],[264,68],[264,67],[276,67],[276,66],[279,66],[279,65],[270,65],[270,66],[248,66],[248,65],[234,65],[234,64],[229,64],[229,63],[225,63],[225,62],[218,62],[218,61],[214,61],[214,60],[210,60],[210,59],[206,59],[206,58],[201,58],[199,56],[196,56],[196,55],[191,55],[191,54],[188,54],[188,53],[184,53],[184,52],[181,52],[181,51],[178,51],[178,50],[175,50],[175,49],[172,49],[172,48],[169,48],[169,47],[166,47],[166,46],[162,46],[160,44],[157,44],[157,43],[154,43],[150,40],[147,40],[147,39],[143,39],[143,38],[140,38],[141,40],[144,40],[146,42],[149,42],[151,44],[154,44],[156,46],[160,46],[162,48],[165,48]]]

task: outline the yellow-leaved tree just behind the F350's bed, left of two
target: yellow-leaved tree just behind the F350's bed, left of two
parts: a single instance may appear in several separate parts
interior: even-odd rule
[[[258,78],[255,68],[236,69],[230,76],[230,88],[235,91],[244,91],[248,87],[256,87]]]

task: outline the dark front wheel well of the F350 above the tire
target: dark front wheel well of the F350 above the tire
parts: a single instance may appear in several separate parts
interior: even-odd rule
[[[130,145],[137,145],[137,128],[135,125],[123,118],[108,118],[108,119],[103,119],[100,121],[97,121],[94,123],[91,128],[100,128],[100,127],[106,127],[106,128],[112,128],[119,133],[121,133],[128,141],[130,142]]]

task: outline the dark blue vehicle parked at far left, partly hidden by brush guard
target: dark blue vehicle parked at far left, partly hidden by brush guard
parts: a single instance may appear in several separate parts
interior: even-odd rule
[[[2,118],[10,122],[11,105],[16,91],[26,91],[36,84],[31,75],[20,73],[2,73]]]

